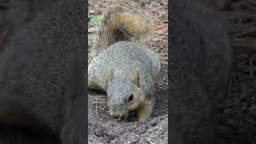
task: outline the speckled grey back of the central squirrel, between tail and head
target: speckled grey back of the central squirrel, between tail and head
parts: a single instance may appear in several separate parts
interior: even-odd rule
[[[124,62],[126,61],[126,62]],[[117,42],[110,46],[107,50],[98,54],[88,66],[88,81],[92,78],[94,82],[98,83],[98,88],[107,90],[108,74],[110,68],[118,69],[123,62],[124,66],[120,67],[122,70],[126,70],[126,73],[132,69],[127,63],[128,61],[139,62],[141,68],[144,70],[146,67],[149,70],[145,70],[149,73],[150,78],[154,82],[158,80],[158,74],[160,73],[160,61],[157,54],[154,54],[151,50],[137,46],[134,42]],[[141,66],[142,65],[142,66]]]

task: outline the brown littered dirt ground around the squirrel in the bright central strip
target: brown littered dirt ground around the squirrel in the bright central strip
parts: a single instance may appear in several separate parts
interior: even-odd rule
[[[145,2],[145,3],[144,3]],[[149,43],[150,48],[161,55],[162,73],[156,90],[156,103],[152,118],[146,122],[137,122],[136,117],[131,117],[130,122],[116,122],[110,118],[106,94],[89,91],[88,111],[88,138],[89,143],[167,143],[168,141],[168,98],[167,98],[167,0],[154,2],[135,2],[102,0],[89,1],[89,18],[102,13],[108,6],[123,6],[138,10],[154,20],[154,35]],[[89,27],[91,34],[95,34],[94,26]],[[93,46],[93,40],[90,41]]]

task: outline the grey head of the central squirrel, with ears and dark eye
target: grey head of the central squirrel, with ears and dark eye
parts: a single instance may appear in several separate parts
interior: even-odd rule
[[[146,97],[143,87],[140,70],[135,70],[132,76],[123,74],[115,77],[114,68],[111,68],[107,89],[110,115],[114,118],[126,118],[130,111],[136,110]]]

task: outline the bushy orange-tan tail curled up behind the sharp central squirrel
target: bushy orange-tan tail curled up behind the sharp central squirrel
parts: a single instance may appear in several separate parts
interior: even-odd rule
[[[150,34],[151,27],[149,19],[126,12],[118,6],[110,8],[103,14],[94,48],[99,54],[115,42],[138,41]]]

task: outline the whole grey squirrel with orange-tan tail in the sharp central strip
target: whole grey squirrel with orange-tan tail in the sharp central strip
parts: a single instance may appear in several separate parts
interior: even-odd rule
[[[138,120],[145,121],[152,114],[161,64],[157,54],[136,43],[147,30],[150,24],[142,17],[120,7],[103,15],[95,47],[99,54],[88,66],[88,86],[106,91],[115,118],[137,110]]]

